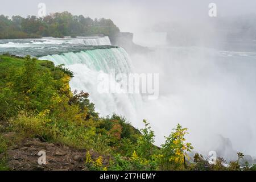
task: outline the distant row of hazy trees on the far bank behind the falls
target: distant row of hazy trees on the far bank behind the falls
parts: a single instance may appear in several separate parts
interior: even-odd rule
[[[43,18],[36,16],[0,15],[0,39],[24,39],[52,36],[63,38],[84,34],[104,34],[110,39],[119,32],[119,28],[110,19],[91,19],[83,15],[72,15],[67,11],[54,13]]]

